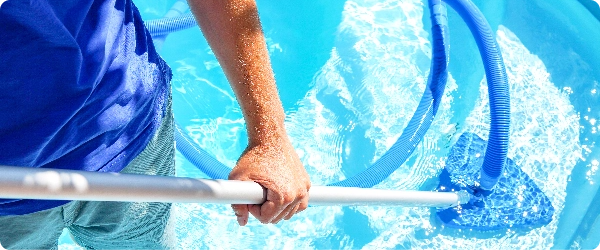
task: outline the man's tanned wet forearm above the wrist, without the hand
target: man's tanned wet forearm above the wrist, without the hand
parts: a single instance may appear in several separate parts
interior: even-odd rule
[[[254,0],[188,0],[240,103],[250,145],[285,136],[277,93]]]

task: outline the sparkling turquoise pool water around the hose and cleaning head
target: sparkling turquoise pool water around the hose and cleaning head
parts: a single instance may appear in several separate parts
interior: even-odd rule
[[[144,18],[173,0],[137,1]],[[463,232],[428,208],[311,207],[290,221],[240,228],[228,206],[176,204],[175,249],[593,249],[600,244],[600,22],[572,0],[474,1],[496,30],[511,92],[509,155],[550,198],[546,226]],[[422,0],[258,0],[286,127],[313,185],[352,176],[378,159],[410,119],[431,48]],[[449,10],[450,77],[431,129],[377,186],[431,190],[463,132],[486,138],[489,106],[475,41]],[[171,34],[161,55],[174,72],[176,119],[233,166],[246,145],[242,114],[198,29]],[[177,174],[205,175],[177,156]],[[66,235],[61,249],[77,249]]]

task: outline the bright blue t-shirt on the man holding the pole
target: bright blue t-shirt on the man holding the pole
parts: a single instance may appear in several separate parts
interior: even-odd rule
[[[0,165],[118,172],[162,121],[171,70],[131,0],[7,0],[0,62]]]

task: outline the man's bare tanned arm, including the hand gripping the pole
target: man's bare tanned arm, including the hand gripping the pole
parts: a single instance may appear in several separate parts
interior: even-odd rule
[[[290,219],[308,206],[310,179],[287,137],[256,2],[188,2],[246,120],[248,147],[229,179],[252,180],[267,189],[262,205],[232,205],[238,223],[248,222],[248,212],[262,223]]]

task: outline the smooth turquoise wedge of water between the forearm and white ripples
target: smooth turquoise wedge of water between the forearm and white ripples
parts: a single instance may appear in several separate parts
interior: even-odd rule
[[[296,105],[330,57],[345,1],[258,0],[267,39],[278,44],[271,63],[286,111]]]

